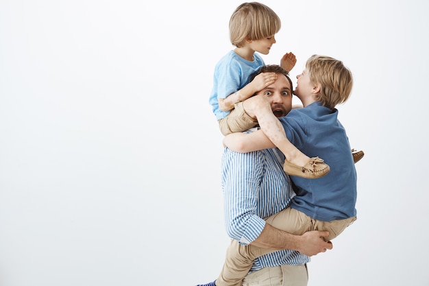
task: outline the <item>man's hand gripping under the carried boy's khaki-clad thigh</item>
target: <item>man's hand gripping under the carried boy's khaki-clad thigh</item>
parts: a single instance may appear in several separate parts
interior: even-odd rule
[[[308,231],[304,233],[304,235],[300,236],[301,241],[299,242],[296,250],[308,257],[312,257],[320,252],[326,252],[326,250],[332,249],[332,242],[326,242],[323,240],[323,237],[328,237],[328,235],[328,231]]]

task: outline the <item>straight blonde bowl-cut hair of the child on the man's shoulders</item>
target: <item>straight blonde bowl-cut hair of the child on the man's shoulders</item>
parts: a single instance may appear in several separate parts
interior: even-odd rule
[[[280,18],[267,5],[249,2],[239,5],[230,19],[232,45],[243,47],[245,40],[274,36],[282,26]]]

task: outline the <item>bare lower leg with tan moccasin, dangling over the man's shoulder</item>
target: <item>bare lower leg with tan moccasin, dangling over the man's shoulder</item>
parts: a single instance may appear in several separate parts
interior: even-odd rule
[[[306,156],[287,139],[282,123],[275,117],[271,104],[262,95],[246,99],[243,108],[249,116],[258,120],[260,129],[282,151],[286,157],[284,171],[287,174],[303,178],[320,178],[328,174],[330,168],[323,160]]]

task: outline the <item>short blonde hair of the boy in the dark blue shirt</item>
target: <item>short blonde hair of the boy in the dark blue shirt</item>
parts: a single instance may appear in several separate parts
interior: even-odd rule
[[[317,101],[323,106],[334,109],[350,97],[353,76],[341,60],[312,55],[306,62],[306,69],[311,83],[321,85]]]

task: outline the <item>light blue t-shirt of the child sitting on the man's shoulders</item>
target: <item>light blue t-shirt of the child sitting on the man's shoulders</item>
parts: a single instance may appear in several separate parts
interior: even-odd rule
[[[230,111],[219,109],[218,100],[243,88],[249,83],[249,77],[263,65],[265,62],[258,53],[254,53],[252,62],[241,58],[235,51],[230,51],[219,60],[215,67],[213,89],[209,99],[217,120],[230,114]]]

